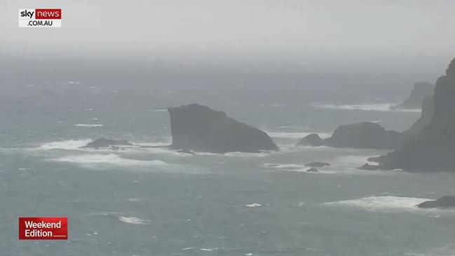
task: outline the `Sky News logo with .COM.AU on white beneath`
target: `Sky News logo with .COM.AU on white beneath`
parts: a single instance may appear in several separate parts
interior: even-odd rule
[[[62,9],[19,9],[19,27],[62,27]]]

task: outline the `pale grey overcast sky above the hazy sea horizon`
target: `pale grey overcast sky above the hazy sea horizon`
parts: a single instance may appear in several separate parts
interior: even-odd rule
[[[3,3],[4,50],[439,54],[453,52],[455,45],[455,1],[451,0]],[[61,7],[62,29],[19,29],[18,8],[27,7]]]

